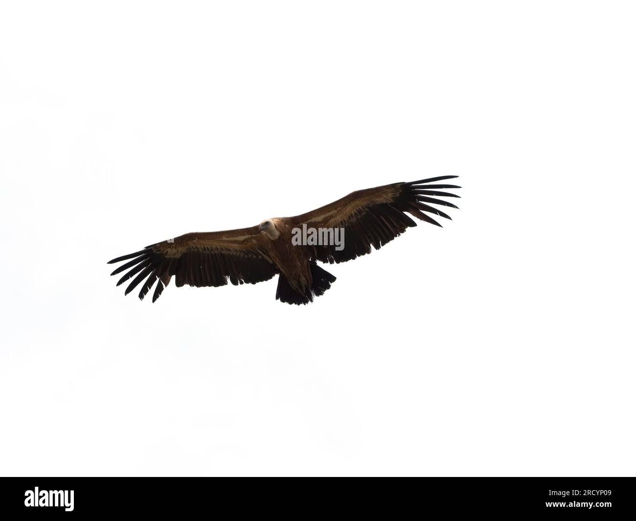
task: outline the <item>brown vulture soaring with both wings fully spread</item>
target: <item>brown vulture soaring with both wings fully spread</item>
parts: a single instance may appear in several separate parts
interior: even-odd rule
[[[144,298],[155,284],[153,302],[175,277],[177,288],[190,286],[235,286],[268,281],[279,275],[276,298],[289,304],[307,304],[329,288],[336,277],[317,265],[346,262],[371,253],[416,226],[408,215],[441,226],[429,214],[450,219],[431,204],[457,208],[438,197],[459,197],[439,191],[460,188],[454,184],[432,184],[457,176],[431,177],[412,183],[393,183],[354,191],[337,201],[295,217],[272,218],[258,226],[226,232],[186,233],[156,242],[141,251],[109,261],[128,261],[111,275],[125,272],[119,286],[132,279],[126,295],[141,284]],[[334,239],[337,230],[343,241],[299,240],[299,230],[333,230],[325,239]],[[303,237],[307,239],[305,231]],[[311,234],[310,234],[311,235]],[[305,242],[306,244],[298,244]],[[334,244],[322,244],[331,242]],[[319,244],[317,244],[319,243]]]

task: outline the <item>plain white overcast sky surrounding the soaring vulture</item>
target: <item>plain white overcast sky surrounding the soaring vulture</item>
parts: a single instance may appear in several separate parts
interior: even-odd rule
[[[0,473],[633,475],[628,2],[0,8]],[[276,282],[106,261],[457,174],[460,210]],[[346,237],[345,237],[346,240]]]

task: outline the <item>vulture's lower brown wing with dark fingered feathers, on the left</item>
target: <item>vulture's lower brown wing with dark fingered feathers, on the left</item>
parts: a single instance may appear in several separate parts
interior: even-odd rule
[[[225,286],[228,279],[236,286],[271,279],[279,270],[268,257],[262,241],[258,226],[226,232],[186,233],[108,263],[132,259],[111,275],[128,270],[117,282],[118,286],[135,277],[128,284],[126,295],[144,281],[139,291],[141,299],[157,282],[153,293],[155,302],[173,276],[177,287],[184,284]]]

